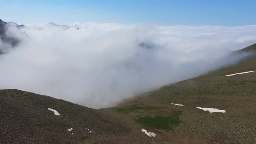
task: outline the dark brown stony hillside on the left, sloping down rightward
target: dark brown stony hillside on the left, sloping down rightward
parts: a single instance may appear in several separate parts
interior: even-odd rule
[[[167,144],[171,141],[168,135],[148,137],[142,128],[133,119],[115,112],[102,112],[16,89],[0,90],[0,144],[151,144],[157,141]],[[175,141],[180,143],[179,139]]]

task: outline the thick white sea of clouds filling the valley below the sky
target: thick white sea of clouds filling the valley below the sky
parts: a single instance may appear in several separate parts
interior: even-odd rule
[[[0,89],[105,108],[233,64],[246,54],[231,52],[256,43],[256,26],[69,26],[22,29],[29,38],[0,55]]]

